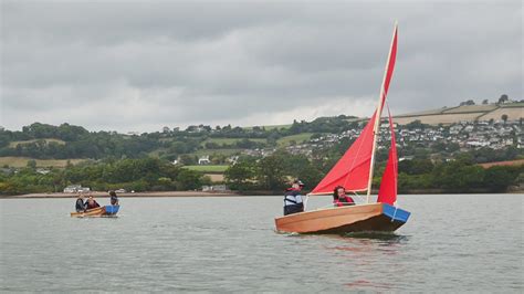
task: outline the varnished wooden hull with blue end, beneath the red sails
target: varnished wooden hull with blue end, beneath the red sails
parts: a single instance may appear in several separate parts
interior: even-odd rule
[[[343,234],[392,232],[410,213],[385,203],[338,207],[290,214],[275,219],[279,232]]]

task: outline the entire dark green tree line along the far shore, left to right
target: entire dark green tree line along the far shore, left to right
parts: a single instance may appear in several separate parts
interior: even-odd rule
[[[314,188],[338,160],[339,155],[326,154],[318,159],[277,150],[271,156],[240,157],[224,172],[232,190],[282,191],[290,180],[300,178]],[[398,165],[399,192],[437,189],[446,192],[504,192],[511,186],[524,183],[524,166],[478,165],[476,153],[459,154],[452,160],[427,158],[404,160]],[[385,162],[376,167],[374,187],[380,183]],[[87,160],[65,168],[52,168],[42,175],[34,161],[15,172],[0,174],[0,193],[57,192],[69,185],[82,185],[94,190],[127,189],[135,191],[195,190],[211,181],[203,174],[172,165],[159,158],[125,158]]]

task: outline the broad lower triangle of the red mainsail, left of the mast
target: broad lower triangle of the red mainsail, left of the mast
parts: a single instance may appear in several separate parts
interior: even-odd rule
[[[347,149],[338,162],[327,172],[326,177],[313,189],[315,193],[331,193],[337,186],[348,191],[367,189],[373,150],[373,129],[375,114],[371,116],[360,136]]]

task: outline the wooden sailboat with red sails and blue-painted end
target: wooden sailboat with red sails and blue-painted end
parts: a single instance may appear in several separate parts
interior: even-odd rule
[[[384,73],[378,105],[363,132],[323,180],[307,195],[332,195],[337,186],[348,193],[366,192],[366,202],[349,207],[333,207],[275,219],[279,232],[296,233],[350,233],[392,232],[408,221],[410,212],[396,206],[398,159],[391,114],[388,115],[391,144],[376,202],[370,202],[375,151],[380,118],[397,59],[398,25],[395,23],[389,55]],[[388,108],[389,112],[389,108]],[[305,203],[307,202],[307,198]]]

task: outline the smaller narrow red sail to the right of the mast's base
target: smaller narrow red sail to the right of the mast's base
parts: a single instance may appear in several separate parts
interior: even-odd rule
[[[391,132],[391,147],[389,148],[389,158],[384,170],[382,182],[380,182],[380,190],[378,190],[377,202],[394,206],[397,201],[398,159],[391,114],[389,114],[389,129]]]

